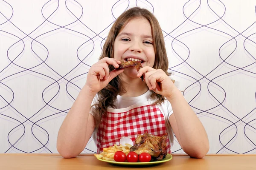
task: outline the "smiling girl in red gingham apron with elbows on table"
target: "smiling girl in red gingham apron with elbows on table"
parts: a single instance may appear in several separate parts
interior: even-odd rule
[[[116,69],[121,61],[131,60],[141,62],[143,68]],[[174,133],[189,156],[205,156],[207,133],[167,70],[165,42],[154,15],[139,7],[121,14],[61,125],[57,141],[61,156],[76,157],[91,136],[99,153],[119,144],[123,136],[134,142],[145,132],[155,136],[167,133],[169,153]]]

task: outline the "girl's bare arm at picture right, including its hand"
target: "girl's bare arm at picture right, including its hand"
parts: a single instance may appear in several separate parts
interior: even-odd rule
[[[207,133],[172,80],[161,69],[145,66],[138,72],[137,77],[145,74],[144,82],[149,90],[165,96],[171,103],[173,114],[169,121],[182,149],[191,157],[204,157],[209,151]]]

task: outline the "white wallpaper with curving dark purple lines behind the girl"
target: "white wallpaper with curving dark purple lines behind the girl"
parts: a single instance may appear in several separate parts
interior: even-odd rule
[[[87,71],[133,6],[158,18],[209,153],[256,153],[256,0],[0,0],[0,153],[57,153]],[[83,153],[95,151],[90,140]]]

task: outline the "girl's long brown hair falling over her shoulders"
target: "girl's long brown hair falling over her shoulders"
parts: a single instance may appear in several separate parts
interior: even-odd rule
[[[148,20],[152,29],[152,37],[155,51],[155,62],[153,68],[162,69],[168,75],[168,58],[160,25],[156,17],[154,17],[154,15],[150,11],[140,7],[130,8],[127,11],[123,12],[116,19],[111,30],[109,31],[107,40],[103,46],[102,54],[99,59],[102,59],[104,57],[114,58],[114,42],[117,35],[131,19],[138,17],[143,17]],[[113,65],[109,65],[109,70],[112,71],[113,69]],[[116,96],[123,90],[124,89],[122,88],[121,81],[117,76],[112,79],[105,88],[98,92],[99,102],[92,106],[92,111],[94,113],[93,115],[96,120],[96,127],[99,126],[101,118],[107,112],[107,108],[109,106],[111,106],[112,108],[116,108],[116,106],[114,105],[114,101],[116,99]],[[152,91],[151,97],[157,98],[155,104],[159,104],[164,100],[164,96],[159,95],[154,91]]]

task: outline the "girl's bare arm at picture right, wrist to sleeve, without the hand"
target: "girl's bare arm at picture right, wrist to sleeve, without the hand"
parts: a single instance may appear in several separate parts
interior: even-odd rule
[[[202,158],[209,151],[209,141],[204,126],[177,88],[167,98],[172,105],[170,124],[180,146],[189,156]]]

